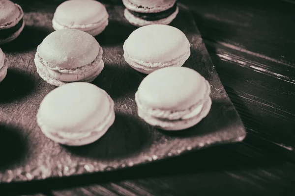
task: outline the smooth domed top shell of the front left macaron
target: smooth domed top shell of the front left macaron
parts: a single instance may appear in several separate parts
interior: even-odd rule
[[[110,114],[104,90],[86,82],[65,84],[42,100],[37,117],[56,131],[91,131]]]

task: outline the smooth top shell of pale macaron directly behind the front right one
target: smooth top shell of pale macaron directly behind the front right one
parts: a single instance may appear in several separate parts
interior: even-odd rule
[[[124,43],[129,56],[147,62],[167,62],[187,52],[185,34],[170,25],[147,25],[133,31]]]

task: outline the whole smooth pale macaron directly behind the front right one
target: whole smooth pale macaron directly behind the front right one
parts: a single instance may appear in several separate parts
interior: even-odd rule
[[[190,56],[185,34],[170,25],[147,25],[133,31],[123,45],[125,61],[141,73],[180,67]]]

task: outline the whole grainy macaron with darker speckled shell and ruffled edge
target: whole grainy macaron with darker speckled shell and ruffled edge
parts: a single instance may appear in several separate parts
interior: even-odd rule
[[[61,29],[49,34],[35,55],[37,73],[49,84],[93,81],[103,70],[102,48],[90,34]]]

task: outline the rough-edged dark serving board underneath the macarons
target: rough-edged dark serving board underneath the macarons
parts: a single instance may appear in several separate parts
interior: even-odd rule
[[[191,43],[191,56],[184,66],[210,83],[211,110],[199,124],[179,132],[161,131],[137,116],[134,94],[146,75],[128,66],[122,49],[136,27],[124,19],[121,4],[109,3],[110,23],[96,37],[104,51],[105,68],[92,83],[114,99],[115,123],[101,139],[87,146],[65,147],[51,141],[37,126],[36,113],[41,100],[56,87],[40,78],[33,59],[37,46],[54,31],[52,18],[60,1],[15,2],[23,7],[26,26],[19,38],[1,46],[9,65],[0,83],[1,183],[113,171],[244,139],[245,128],[190,12],[181,4],[171,25],[183,31]]]

